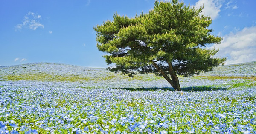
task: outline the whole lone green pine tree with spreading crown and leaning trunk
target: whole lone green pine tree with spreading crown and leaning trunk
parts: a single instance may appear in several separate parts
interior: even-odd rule
[[[214,58],[218,50],[206,48],[222,39],[211,34],[212,20],[200,14],[202,9],[177,0],[155,1],[154,9],[146,14],[133,18],[114,14],[113,21],[97,25],[97,48],[108,53],[104,56],[108,65],[115,64],[108,70],[131,77],[155,73],[176,90],[181,90],[177,75],[212,71],[226,58]]]

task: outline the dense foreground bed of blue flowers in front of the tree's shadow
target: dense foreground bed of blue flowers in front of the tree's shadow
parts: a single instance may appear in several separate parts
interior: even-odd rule
[[[202,92],[0,84],[1,133],[255,133],[256,88]]]

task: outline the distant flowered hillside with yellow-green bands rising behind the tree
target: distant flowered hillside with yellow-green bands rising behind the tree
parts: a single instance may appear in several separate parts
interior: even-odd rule
[[[218,66],[211,72],[194,77],[179,77],[181,87],[217,86],[230,88],[233,84],[255,84],[256,62]],[[60,63],[29,63],[0,67],[0,80],[12,83],[30,82],[73,83],[90,88],[163,88],[170,87],[163,78],[154,74],[137,74],[134,77],[115,74],[105,68],[88,68]],[[224,83],[224,84],[223,84]],[[244,84],[242,84],[244,85]]]

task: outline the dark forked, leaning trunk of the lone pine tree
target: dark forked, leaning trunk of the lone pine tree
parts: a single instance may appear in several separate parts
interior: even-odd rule
[[[179,83],[179,79],[177,77],[177,75],[175,74],[175,72],[172,70],[172,73],[170,71],[170,75],[171,75],[171,78],[172,80],[163,72],[163,70],[161,68],[159,68],[159,66],[157,65],[157,63],[154,63],[154,61],[152,61],[152,64],[155,68],[157,68],[157,71],[159,71],[163,77],[168,81],[168,83],[171,84],[171,86],[177,90],[177,91],[181,91],[181,88],[180,88],[180,83]],[[169,64],[169,63],[168,63]],[[172,68],[172,64],[171,64],[171,68]],[[169,67],[170,69],[170,67]]]

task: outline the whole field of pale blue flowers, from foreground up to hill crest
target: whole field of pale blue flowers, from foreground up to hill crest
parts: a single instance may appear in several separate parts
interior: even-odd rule
[[[0,67],[0,134],[256,134],[256,62],[179,77],[56,63]]]

